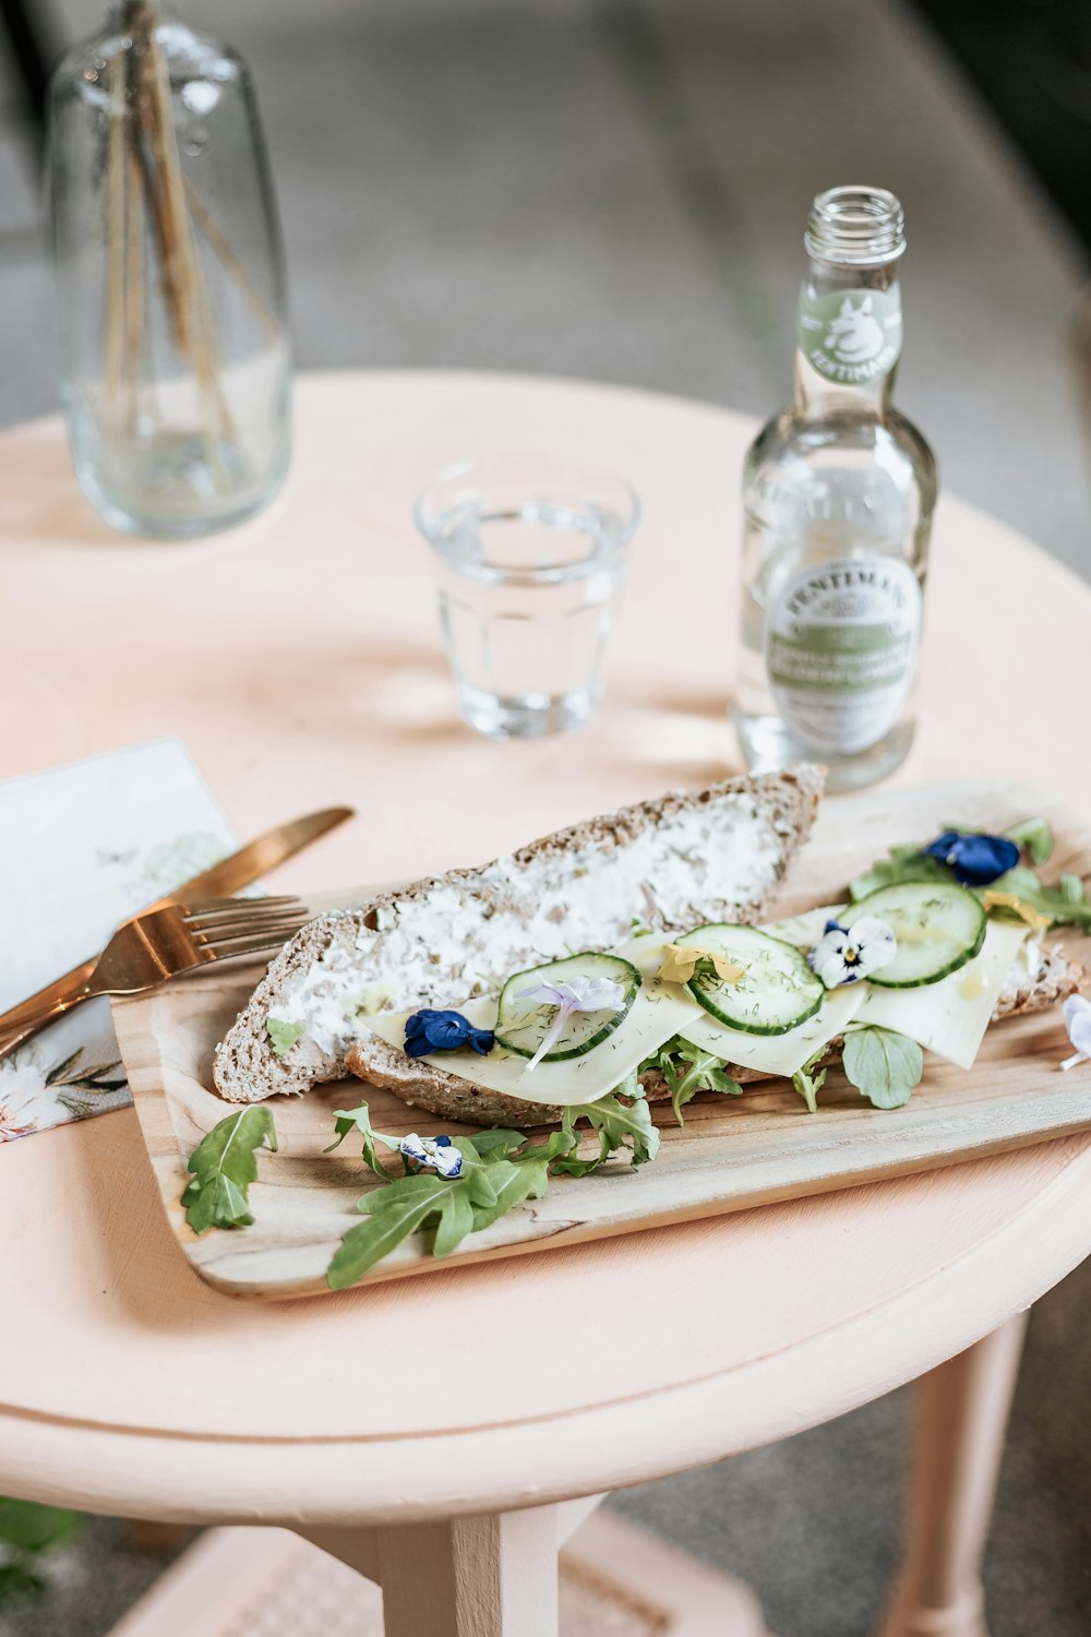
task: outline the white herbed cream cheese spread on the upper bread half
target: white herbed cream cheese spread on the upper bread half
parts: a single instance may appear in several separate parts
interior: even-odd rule
[[[370,1013],[460,1005],[520,967],[610,949],[635,922],[674,931],[731,918],[767,892],[782,855],[772,820],[739,794],[679,809],[630,841],[499,858],[384,905],[355,941],[335,938],[272,1015],[340,1056]]]

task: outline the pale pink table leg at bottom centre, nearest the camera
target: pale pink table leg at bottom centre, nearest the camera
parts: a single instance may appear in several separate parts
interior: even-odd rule
[[[554,1506],[378,1529],[386,1637],[558,1637]]]

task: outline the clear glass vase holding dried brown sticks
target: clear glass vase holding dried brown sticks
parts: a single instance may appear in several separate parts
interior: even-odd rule
[[[250,72],[121,0],[59,64],[49,205],[75,475],[114,529],[193,537],[288,467],[291,355]]]

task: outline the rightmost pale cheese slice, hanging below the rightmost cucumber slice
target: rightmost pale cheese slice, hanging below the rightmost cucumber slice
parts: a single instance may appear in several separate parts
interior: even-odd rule
[[[991,920],[981,953],[937,984],[921,984],[919,989],[878,989],[869,984],[857,1023],[896,1030],[959,1069],[972,1069],[1029,930],[1014,922]]]

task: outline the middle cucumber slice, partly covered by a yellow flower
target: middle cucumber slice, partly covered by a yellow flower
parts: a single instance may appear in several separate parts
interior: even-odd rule
[[[715,972],[694,972],[685,985],[694,1000],[728,1028],[746,1035],[787,1035],[813,1018],[823,1003],[826,989],[806,958],[757,927],[713,922],[676,941],[716,949],[744,969],[734,984],[721,982]]]

